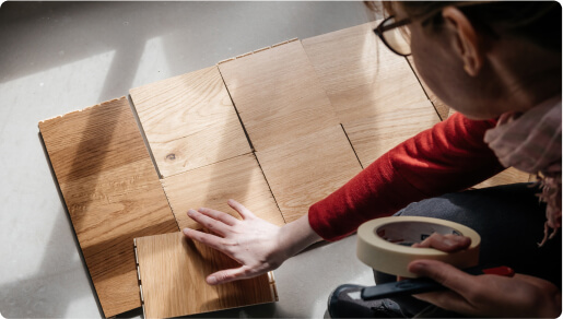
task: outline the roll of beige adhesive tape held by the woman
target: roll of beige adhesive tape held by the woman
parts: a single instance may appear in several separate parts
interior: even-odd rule
[[[432,233],[455,234],[471,238],[468,249],[447,253],[434,248],[414,248]],[[377,271],[415,277],[407,270],[415,259],[433,259],[464,269],[479,263],[481,237],[476,231],[431,217],[392,216],[366,222],[357,228],[357,258]]]

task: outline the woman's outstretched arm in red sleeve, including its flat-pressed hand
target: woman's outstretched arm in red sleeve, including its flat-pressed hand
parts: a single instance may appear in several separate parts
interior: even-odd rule
[[[230,200],[242,221],[200,209],[188,215],[210,229],[184,229],[187,237],[230,256],[242,265],[208,276],[226,283],[262,274],[322,238],[337,240],[365,221],[390,215],[407,204],[472,186],[503,167],[483,142],[494,121],[471,121],[454,115],[379,157],[352,180],[310,206],[308,214],[278,227]]]

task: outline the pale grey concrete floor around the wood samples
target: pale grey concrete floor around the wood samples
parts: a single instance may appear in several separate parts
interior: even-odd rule
[[[374,20],[361,2],[4,2],[0,8],[0,312],[99,317],[37,122],[293,37]],[[280,302],[206,317],[326,316],[330,291],[373,284],[355,237],[275,271]],[[139,317],[133,310],[124,317]]]

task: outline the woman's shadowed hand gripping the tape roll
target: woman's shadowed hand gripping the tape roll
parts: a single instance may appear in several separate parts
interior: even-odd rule
[[[460,247],[469,246],[470,240],[467,241],[464,238],[467,237],[436,235],[418,246],[455,251],[462,249]],[[552,283],[539,277],[524,274],[516,274],[514,277],[492,274],[470,275],[450,264],[435,260],[412,261],[409,264],[409,271],[431,277],[449,288],[414,295],[421,300],[446,310],[471,317],[555,318],[561,315],[561,292]]]

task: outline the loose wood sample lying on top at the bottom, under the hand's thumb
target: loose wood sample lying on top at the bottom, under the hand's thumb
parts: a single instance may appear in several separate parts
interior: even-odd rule
[[[210,286],[206,276],[238,267],[225,255],[183,233],[136,239],[144,318],[169,318],[277,302],[268,274]],[[139,288],[139,287],[138,287]]]

